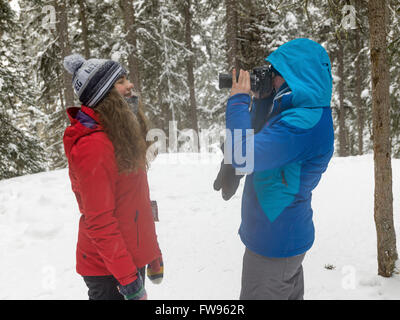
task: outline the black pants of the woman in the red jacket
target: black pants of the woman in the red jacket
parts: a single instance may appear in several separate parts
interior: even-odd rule
[[[139,269],[143,279],[145,279],[146,268]],[[124,300],[124,296],[118,291],[118,281],[114,276],[83,276],[83,280],[88,287],[89,300]]]

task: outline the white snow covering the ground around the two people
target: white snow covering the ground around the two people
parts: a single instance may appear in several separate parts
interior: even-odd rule
[[[149,171],[163,251],[150,299],[237,299],[244,246],[243,180],[230,201],[212,189],[220,155],[159,155]],[[400,160],[393,160],[397,238]],[[303,263],[305,299],[400,299],[400,276],[377,276],[373,156],[333,158],[313,193],[316,240]],[[75,272],[79,220],[68,171],[0,181],[0,299],[87,299]],[[398,248],[400,249],[399,241]],[[330,266],[328,270],[328,267]]]

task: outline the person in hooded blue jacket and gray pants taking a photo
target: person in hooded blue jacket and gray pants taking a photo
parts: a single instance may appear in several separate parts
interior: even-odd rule
[[[247,170],[240,298],[303,299],[302,262],[314,242],[311,193],[334,148],[331,64],[325,49],[309,39],[285,43],[266,61],[273,70],[272,105],[268,98],[254,99],[256,109],[249,112],[250,75],[241,71],[236,82],[234,70],[226,109],[232,137],[241,133],[232,140],[232,165]],[[268,115],[261,130],[249,134],[257,108],[269,108]],[[250,166],[235,161],[241,152],[252,153],[246,155]]]

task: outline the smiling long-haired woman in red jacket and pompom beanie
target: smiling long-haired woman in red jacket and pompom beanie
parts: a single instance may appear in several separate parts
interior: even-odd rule
[[[68,108],[64,133],[78,201],[77,272],[90,299],[146,299],[144,270],[163,274],[147,183],[143,114],[135,115],[126,71],[112,60],[74,54],[64,60],[81,108]]]

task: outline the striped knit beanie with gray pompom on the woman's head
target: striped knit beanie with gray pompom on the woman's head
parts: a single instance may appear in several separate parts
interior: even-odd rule
[[[96,107],[114,83],[126,75],[126,70],[116,61],[86,60],[80,54],[65,57],[64,68],[72,74],[72,87],[79,101],[90,108]]]

